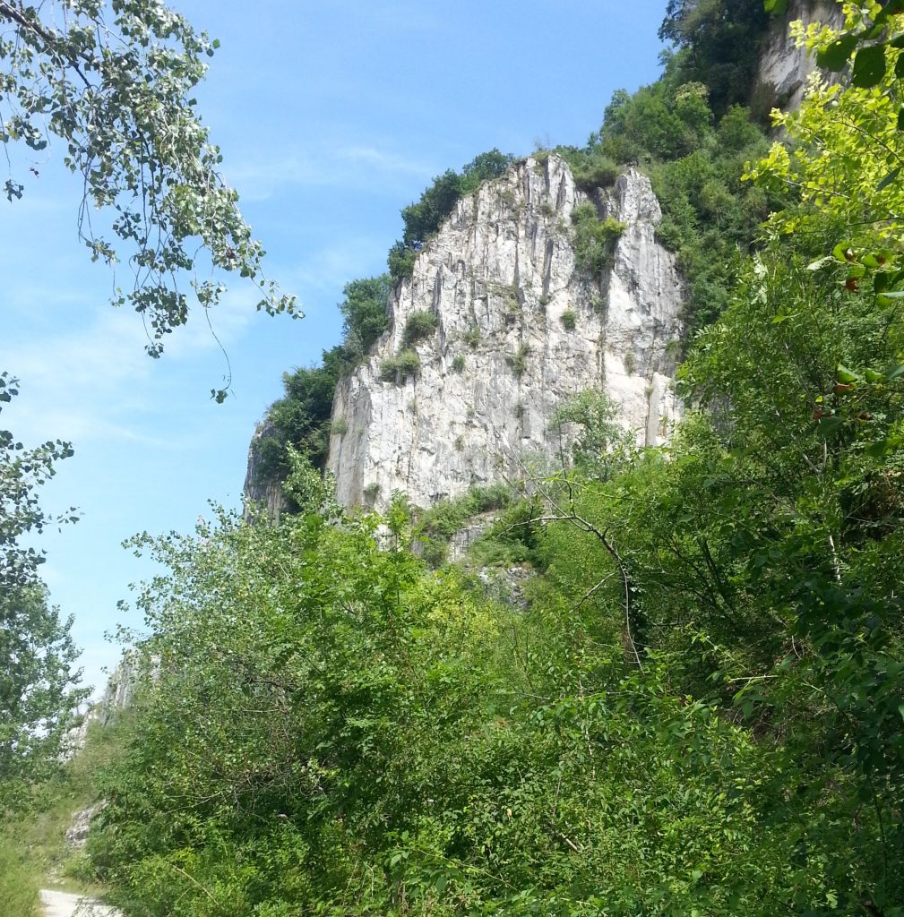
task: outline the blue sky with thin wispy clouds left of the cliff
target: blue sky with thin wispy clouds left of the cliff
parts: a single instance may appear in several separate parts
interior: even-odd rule
[[[284,370],[340,337],[336,304],[357,277],[385,271],[399,209],[447,168],[494,147],[580,144],[615,89],[658,74],[664,0],[182,0],[173,6],[221,41],[199,111],[227,181],[267,249],[266,270],[306,317],[267,318],[236,282],[213,316],[144,356],[138,316],[108,304],[112,279],[76,239],[80,183],[61,149],[39,154],[22,201],[0,199],[0,369],[21,380],[2,420],[18,438],[73,441],[46,490],[77,505],[77,525],[40,539],[53,602],[74,617],[86,679],[118,650],[104,639],[128,584],[150,567],[129,535],[187,531],[207,501],[240,503],[251,433],[281,394]],[[14,159],[14,162],[16,160]],[[28,163],[27,163],[28,164]]]

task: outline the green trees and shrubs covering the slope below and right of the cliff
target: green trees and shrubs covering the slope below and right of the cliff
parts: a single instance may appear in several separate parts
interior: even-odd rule
[[[769,152],[704,65],[754,6],[672,3],[702,31],[567,152],[671,221],[668,447],[591,393],[523,500],[347,514],[285,448],[279,525],[137,539],[171,573],[89,844],[129,914],[904,914],[904,16],[813,31],[854,84]],[[491,507],[470,568],[409,549]]]

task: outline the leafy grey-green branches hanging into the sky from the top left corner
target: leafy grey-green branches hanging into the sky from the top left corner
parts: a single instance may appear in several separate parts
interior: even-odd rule
[[[159,0],[0,0],[0,139],[25,147],[10,163],[6,197],[26,193],[36,171],[29,151],[61,140],[65,164],[84,181],[79,237],[92,260],[128,261],[131,289],[117,289],[114,302],[142,316],[152,357],[187,319],[186,288],[204,308],[217,304],[217,271],[255,282],[259,309],[295,310],[294,298],[263,278],[261,244],[195,114],[191,93],[217,46]],[[92,204],[114,215],[115,242],[93,224]],[[221,401],[225,392],[214,395]]]

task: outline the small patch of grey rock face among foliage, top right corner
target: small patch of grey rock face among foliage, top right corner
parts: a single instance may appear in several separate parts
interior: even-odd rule
[[[836,0],[791,0],[784,17],[776,17],[769,28],[760,65],[756,73],[753,99],[754,107],[768,114],[772,108],[794,110],[803,100],[807,79],[816,62],[798,48],[789,34],[790,23],[800,19],[804,26],[820,22],[840,28],[844,17],[841,4]],[[826,74],[838,79],[837,74]]]

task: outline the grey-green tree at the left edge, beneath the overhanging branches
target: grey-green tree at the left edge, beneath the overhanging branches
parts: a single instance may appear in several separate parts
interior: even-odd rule
[[[0,403],[17,395],[0,373]],[[54,465],[73,454],[57,440],[25,448],[0,430],[0,812],[23,801],[28,783],[59,763],[61,741],[86,691],[76,686],[72,621],[48,603],[38,570],[44,557],[21,543],[49,525],[74,522],[70,509],[51,515],[37,491]]]

